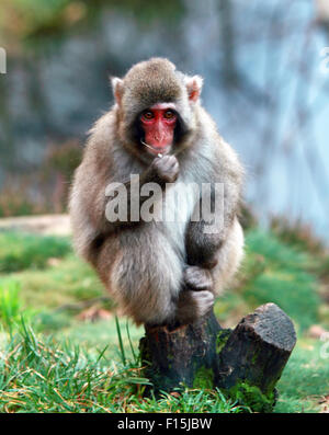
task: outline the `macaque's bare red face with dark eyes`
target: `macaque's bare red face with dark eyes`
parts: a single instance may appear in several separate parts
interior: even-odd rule
[[[174,105],[170,103],[155,104],[140,116],[141,128],[145,133],[145,142],[152,153],[168,153],[173,142],[177,114]]]

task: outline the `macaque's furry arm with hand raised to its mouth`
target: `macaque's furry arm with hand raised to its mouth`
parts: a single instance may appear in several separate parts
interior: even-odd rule
[[[92,261],[94,253],[99,252],[107,237],[115,234],[122,227],[139,225],[140,219],[137,222],[132,222],[129,218],[132,184],[124,183],[124,180],[128,219],[118,219],[112,222],[106,218],[109,198],[105,196],[105,191],[106,186],[116,179],[115,169],[111,161],[102,169],[97,164],[97,160],[90,158],[92,153],[88,151],[75,175],[69,208],[76,249],[84,259]],[[109,179],[109,173],[111,179]],[[140,186],[154,182],[164,187],[166,183],[174,182],[178,174],[179,164],[175,157],[164,156],[161,159],[155,159],[152,164],[140,175]],[[126,174],[125,178],[127,179],[128,175]],[[140,191],[137,191],[137,195],[139,195],[141,206],[147,197],[140,196]]]

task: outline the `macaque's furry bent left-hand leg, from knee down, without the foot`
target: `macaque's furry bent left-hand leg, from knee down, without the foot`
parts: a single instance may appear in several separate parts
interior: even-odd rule
[[[136,323],[170,323],[183,281],[182,259],[152,222],[122,232],[120,244],[109,277],[114,297]]]

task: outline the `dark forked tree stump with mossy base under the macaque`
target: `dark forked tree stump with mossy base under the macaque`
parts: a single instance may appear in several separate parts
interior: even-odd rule
[[[295,343],[291,319],[276,305],[265,304],[234,331],[222,329],[213,311],[173,331],[146,327],[140,354],[156,394],[218,387],[252,411],[271,412],[275,385]]]

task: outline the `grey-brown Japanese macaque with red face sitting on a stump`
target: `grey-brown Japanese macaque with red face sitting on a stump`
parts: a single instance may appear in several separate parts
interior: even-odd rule
[[[204,316],[242,257],[237,215],[243,171],[200,103],[202,84],[163,58],[113,78],[115,103],[91,129],[75,174],[76,250],[137,324],[179,325]],[[132,174],[139,175],[137,190]],[[127,219],[106,217],[112,201],[120,206],[118,195],[109,194],[113,183],[127,190]],[[147,183],[158,186],[155,201],[162,205],[152,204],[151,220],[143,214],[132,219],[133,203],[140,211],[149,201]],[[216,185],[223,186],[219,206]],[[203,214],[203,203],[211,203],[211,213]],[[160,218],[163,210],[179,219]]]

